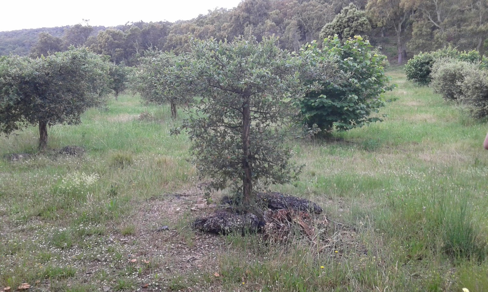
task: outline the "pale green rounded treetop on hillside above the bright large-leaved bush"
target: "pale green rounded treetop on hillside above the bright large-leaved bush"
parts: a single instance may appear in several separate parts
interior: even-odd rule
[[[366,12],[359,9],[354,3],[341,10],[332,22],[325,24],[320,32],[320,38],[338,35],[340,39],[348,39],[357,35],[363,35],[371,30],[371,24],[366,17]]]

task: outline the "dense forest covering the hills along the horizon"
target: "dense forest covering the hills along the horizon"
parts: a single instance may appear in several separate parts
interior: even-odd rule
[[[350,6],[357,5],[358,9]],[[352,7],[352,8],[351,8]],[[488,46],[487,0],[244,0],[191,20],[132,22],[116,27],[73,26],[0,32],[0,55],[32,57],[86,46],[115,64],[133,66],[146,50],[188,51],[192,37],[280,37],[283,49],[338,33],[366,35],[392,63],[447,45]]]

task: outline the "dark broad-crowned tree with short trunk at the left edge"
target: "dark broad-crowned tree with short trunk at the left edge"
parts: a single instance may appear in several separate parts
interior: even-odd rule
[[[85,48],[30,59],[0,59],[0,132],[39,125],[39,149],[47,146],[47,125],[78,124],[100,105],[107,91],[108,63]]]

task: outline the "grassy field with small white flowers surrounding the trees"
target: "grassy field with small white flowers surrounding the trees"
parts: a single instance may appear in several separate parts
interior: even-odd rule
[[[137,96],[48,129],[50,148],[83,155],[11,161],[36,152],[37,128],[1,136],[0,289],[488,291],[488,125],[389,73],[398,88],[387,97],[398,100],[384,122],[296,141],[300,180],[270,187],[321,204],[325,240],[193,231],[208,210],[190,209],[204,182],[186,161],[189,142],[169,135],[179,123],[169,107]]]

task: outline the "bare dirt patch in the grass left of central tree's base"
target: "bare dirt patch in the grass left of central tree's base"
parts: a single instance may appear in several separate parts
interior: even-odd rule
[[[202,201],[202,196],[201,189],[195,186],[142,204],[133,221],[139,230],[134,237],[138,242],[138,254],[150,257],[163,254],[169,260],[164,264],[168,272],[185,274],[193,269],[215,270],[218,266],[216,254],[222,251],[224,238],[195,234],[191,228],[193,220],[189,218],[208,212],[209,209],[191,210]]]

